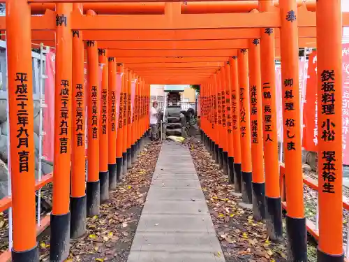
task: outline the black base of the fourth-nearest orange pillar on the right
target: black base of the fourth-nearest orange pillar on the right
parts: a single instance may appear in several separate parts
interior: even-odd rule
[[[252,182],[253,218],[256,221],[265,219],[265,183]]]

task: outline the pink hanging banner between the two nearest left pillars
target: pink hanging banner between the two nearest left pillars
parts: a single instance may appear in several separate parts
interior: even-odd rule
[[[53,136],[54,136],[54,60],[55,55],[49,52],[46,55],[45,72],[45,103],[47,108],[43,108],[43,157],[48,161],[53,161]]]

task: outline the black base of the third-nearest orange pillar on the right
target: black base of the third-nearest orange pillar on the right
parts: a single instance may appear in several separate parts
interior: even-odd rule
[[[267,233],[273,241],[281,241],[283,238],[283,222],[281,210],[281,198],[269,198],[265,196]]]

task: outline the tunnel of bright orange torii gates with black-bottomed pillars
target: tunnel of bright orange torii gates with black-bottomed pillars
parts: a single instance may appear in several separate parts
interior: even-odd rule
[[[1,210],[13,208],[12,261],[38,261],[35,190],[45,182],[34,176],[33,43],[56,48],[50,261],[67,258],[69,238],[84,234],[86,217],[98,214],[108,189],[114,189],[140,149],[149,126],[151,83],[200,85],[202,139],[229,173],[235,191],[242,191],[244,202],[253,202],[255,219],[266,219],[272,240],[282,238],[276,134],[276,99],[282,99],[288,259],[307,261],[299,47],[318,52],[318,261],[344,261],[341,36],[349,14],[341,13],[341,0],[137,2],[6,1],[0,30],[6,30],[8,44],[12,198],[1,203]],[[275,57],[281,57],[282,98],[275,92]],[[101,87],[98,62],[105,65]],[[121,87],[117,71],[124,73]],[[119,105],[116,88],[121,88]],[[84,100],[87,182],[81,146]]]

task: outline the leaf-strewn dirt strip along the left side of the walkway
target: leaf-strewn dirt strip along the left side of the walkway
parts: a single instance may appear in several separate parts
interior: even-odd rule
[[[160,143],[149,143],[128,170],[109,201],[101,205],[98,216],[87,219],[87,233],[80,240],[70,240],[70,256],[66,262],[126,262],[133,237],[147,198]],[[48,232],[49,233],[49,232]],[[50,239],[40,239],[40,261],[49,261]]]

